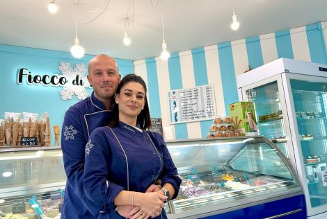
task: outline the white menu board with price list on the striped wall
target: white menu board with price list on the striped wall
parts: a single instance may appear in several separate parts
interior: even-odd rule
[[[168,92],[168,106],[170,124],[214,119],[214,85],[171,90]]]

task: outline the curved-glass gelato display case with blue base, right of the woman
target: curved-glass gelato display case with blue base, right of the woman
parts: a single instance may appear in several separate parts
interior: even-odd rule
[[[168,218],[305,218],[292,166],[266,138],[190,139],[167,146],[182,177]]]

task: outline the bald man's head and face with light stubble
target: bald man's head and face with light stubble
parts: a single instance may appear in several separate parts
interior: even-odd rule
[[[120,82],[120,74],[113,58],[98,55],[89,64],[88,82],[100,101],[113,97]]]

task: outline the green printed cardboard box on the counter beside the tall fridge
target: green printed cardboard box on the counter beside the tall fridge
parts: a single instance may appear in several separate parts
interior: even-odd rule
[[[255,106],[253,102],[237,102],[228,105],[235,128],[244,135],[257,134]]]

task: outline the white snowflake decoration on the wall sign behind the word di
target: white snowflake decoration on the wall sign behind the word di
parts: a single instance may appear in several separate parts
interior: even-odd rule
[[[90,84],[88,83],[85,75],[85,64],[76,64],[74,69],[72,69],[72,67],[70,67],[70,63],[61,62],[61,65],[58,67],[58,69],[67,79],[67,83],[60,91],[61,98],[63,100],[71,100],[74,94],[77,95],[79,100],[83,100],[88,97],[88,91],[86,91],[86,87],[90,87]],[[83,82],[83,85],[80,85],[80,82]]]

